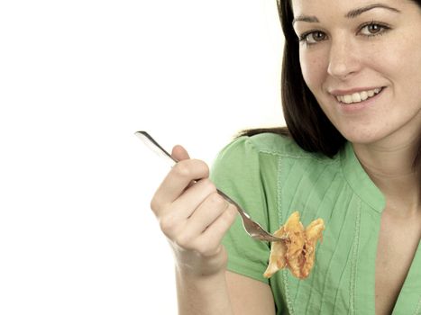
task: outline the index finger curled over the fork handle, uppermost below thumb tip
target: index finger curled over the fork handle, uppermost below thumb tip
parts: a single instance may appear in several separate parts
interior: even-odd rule
[[[164,178],[153,195],[151,209],[159,211],[184,193],[191,181],[207,178],[208,176],[209,167],[205,162],[197,159],[179,161],[171,168],[169,174]]]

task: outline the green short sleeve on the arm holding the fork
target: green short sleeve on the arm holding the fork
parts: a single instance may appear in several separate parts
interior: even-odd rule
[[[240,204],[264,229],[268,226],[268,205],[261,179],[260,157],[250,138],[233,140],[215,158],[211,180]],[[228,252],[228,270],[268,284],[263,273],[268,266],[270,247],[267,242],[251,238],[237,216],[224,236]]]

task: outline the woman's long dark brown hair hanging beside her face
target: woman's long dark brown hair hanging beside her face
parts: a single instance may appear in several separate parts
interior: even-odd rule
[[[263,131],[290,135],[298,146],[333,157],[343,147],[345,139],[326,117],[308,89],[301,73],[297,35],[292,28],[292,8],[289,1],[277,0],[279,19],[285,36],[281,72],[281,101],[287,128],[245,130],[253,135]]]

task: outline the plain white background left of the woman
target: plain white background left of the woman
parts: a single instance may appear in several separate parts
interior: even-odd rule
[[[0,3],[0,313],[176,314],[168,166],[283,124],[275,0]]]

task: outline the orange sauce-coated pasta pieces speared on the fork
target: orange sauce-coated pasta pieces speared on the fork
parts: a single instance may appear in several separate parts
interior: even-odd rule
[[[304,229],[298,211],[293,212],[274,233],[277,237],[287,236],[287,239],[272,242],[269,265],[263,276],[270,278],[280,269],[288,268],[297,278],[307,278],[315,264],[316,242],[322,240],[324,229],[325,222],[322,219],[312,221]]]

